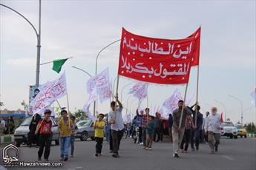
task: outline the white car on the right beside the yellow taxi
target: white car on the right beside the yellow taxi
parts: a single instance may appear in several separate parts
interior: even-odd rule
[[[234,126],[232,121],[224,121],[223,128],[221,128],[221,135],[237,139],[237,127]]]

